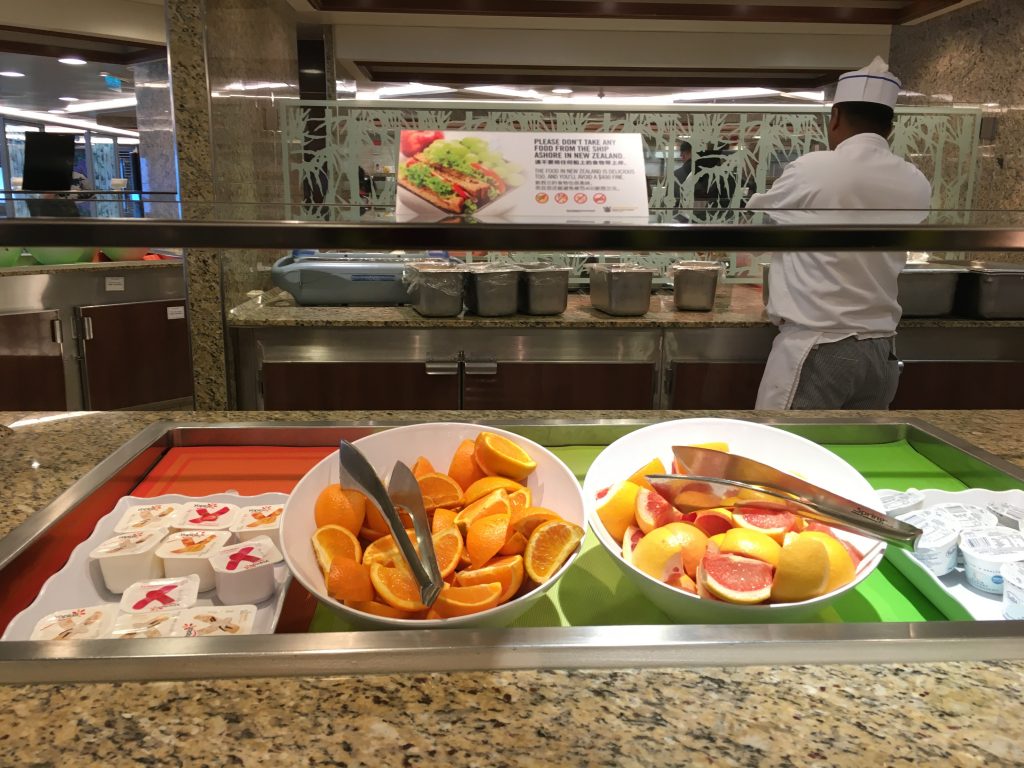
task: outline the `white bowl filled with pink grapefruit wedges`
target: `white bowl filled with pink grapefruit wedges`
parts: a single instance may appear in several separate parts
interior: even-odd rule
[[[682,419],[631,432],[587,472],[588,519],[624,573],[687,623],[814,621],[881,562],[885,544],[834,529],[766,497],[684,484],[672,502],[645,476],[671,474],[674,445],[706,445],[768,464],[879,508],[870,484],[838,456],[775,427]]]

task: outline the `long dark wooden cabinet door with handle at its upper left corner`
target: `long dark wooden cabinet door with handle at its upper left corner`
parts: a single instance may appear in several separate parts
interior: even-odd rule
[[[653,362],[467,362],[463,408],[654,408]]]

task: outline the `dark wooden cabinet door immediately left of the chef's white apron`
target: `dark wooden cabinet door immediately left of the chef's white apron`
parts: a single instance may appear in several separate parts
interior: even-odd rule
[[[673,364],[669,408],[753,409],[764,370],[764,362]]]

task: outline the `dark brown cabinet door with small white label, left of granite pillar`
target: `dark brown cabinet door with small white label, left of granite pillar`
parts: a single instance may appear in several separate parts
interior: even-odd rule
[[[104,411],[193,395],[184,301],[140,301],[79,309],[85,402]]]

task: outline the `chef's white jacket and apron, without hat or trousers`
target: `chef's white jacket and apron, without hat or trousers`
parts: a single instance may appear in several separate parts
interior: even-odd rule
[[[794,161],[750,210],[783,224],[915,224],[928,216],[925,175],[893,155],[876,133]],[[896,281],[906,253],[778,253],[769,272],[768,316],[780,327],[758,394],[758,408],[786,409],[810,350],[849,336],[896,333]]]

